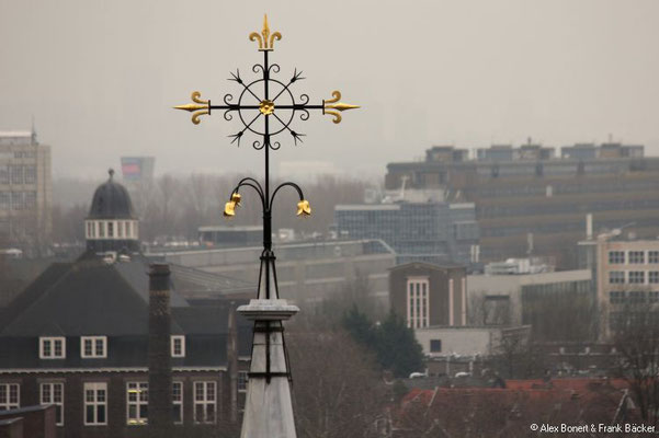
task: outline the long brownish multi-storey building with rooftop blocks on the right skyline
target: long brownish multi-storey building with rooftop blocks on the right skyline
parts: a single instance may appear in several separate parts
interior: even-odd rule
[[[447,203],[474,203],[484,263],[552,256],[577,266],[583,215],[596,229],[636,222],[638,238],[659,235],[659,157],[643,146],[604,143],[564,148],[495,146],[469,160],[466,150],[431,148],[422,162],[387,165],[389,191],[435,189]]]

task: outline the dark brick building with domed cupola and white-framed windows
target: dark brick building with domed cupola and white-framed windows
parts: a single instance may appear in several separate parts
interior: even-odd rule
[[[116,223],[136,220],[127,192],[107,184],[118,186],[109,182],[94,194],[88,252],[50,265],[0,313],[0,410],[54,404],[60,438],[148,433],[148,261],[126,242],[125,228],[118,232]],[[90,220],[105,221],[100,245],[93,240],[101,228],[90,232]],[[177,430],[196,436],[239,422],[251,325],[235,314],[242,302],[197,306],[177,281],[168,281],[167,392]]]

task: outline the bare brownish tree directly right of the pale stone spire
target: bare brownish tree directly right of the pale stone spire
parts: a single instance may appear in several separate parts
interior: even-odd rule
[[[342,331],[310,326],[287,337],[300,438],[368,438],[387,401],[372,356]]]

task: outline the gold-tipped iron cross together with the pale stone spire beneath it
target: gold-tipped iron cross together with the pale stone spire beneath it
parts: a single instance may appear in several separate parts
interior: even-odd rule
[[[245,407],[241,437],[243,438],[293,438],[295,424],[291,404],[291,372],[283,336],[283,321],[288,320],[299,311],[295,306],[280,299],[275,256],[272,251],[272,205],[280,189],[292,187],[299,196],[297,216],[311,215],[309,201],[305,199],[302,188],[293,183],[285,182],[270,191],[270,151],[277,150],[281,142],[276,136],[289,135],[294,145],[303,142],[304,134],[297,131],[293,122],[296,116],[300,120],[308,120],[311,111],[320,111],[323,115],[332,116],[334,124],[341,123],[341,113],[357,108],[356,105],[340,102],[341,93],[333,91],[332,99],[322,100],[320,104],[310,104],[307,94],[295,97],[292,87],[305,79],[302,71],[295,69],[287,81],[277,79],[281,68],[277,64],[270,64],[269,55],[274,50],[274,43],[282,39],[280,32],[270,31],[268,15],[263,19],[261,32],[252,32],[249,39],[257,42],[259,51],[263,54],[263,64],[257,64],[252,71],[260,73],[254,80],[245,81],[240,71],[231,72],[230,81],[241,85],[237,102],[234,103],[232,94],[225,94],[220,105],[214,105],[211,100],[202,99],[198,91],[192,93],[193,103],[175,106],[177,110],[192,113],[192,123],[198,125],[202,116],[212,115],[212,112],[224,112],[226,120],[239,117],[242,128],[229,137],[231,143],[240,146],[247,136],[255,136],[252,147],[263,150],[264,180],[261,185],[252,177],[245,177],[231,191],[229,200],[225,205],[224,216],[231,218],[240,206],[240,189],[250,187],[261,200],[263,210],[263,251],[259,270],[259,290],[257,299],[248,306],[238,308],[246,318],[254,321],[252,356],[250,365],[250,383]],[[258,122],[262,122],[261,126]],[[279,137],[277,137],[279,138]]]

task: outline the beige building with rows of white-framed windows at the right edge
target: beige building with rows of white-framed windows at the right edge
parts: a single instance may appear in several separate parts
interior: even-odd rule
[[[579,242],[583,267],[596,288],[600,341],[609,341],[629,309],[659,303],[659,239],[634,239],[614,230]]]

